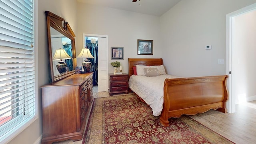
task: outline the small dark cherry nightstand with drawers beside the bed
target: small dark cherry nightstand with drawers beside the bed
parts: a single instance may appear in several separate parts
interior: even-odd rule
[[[108,74],[109,76],[109,89],[110,96],[118,93],[128,94],[128,74]]]

